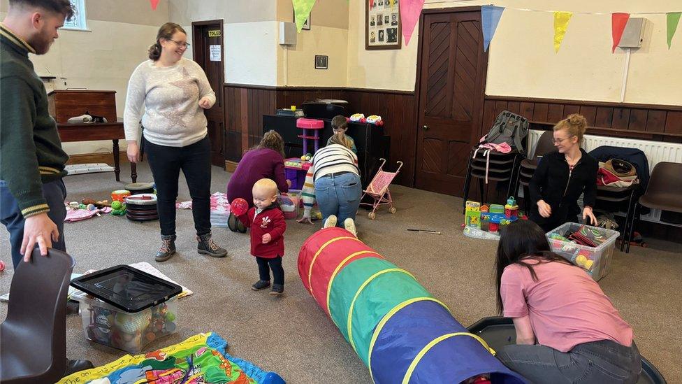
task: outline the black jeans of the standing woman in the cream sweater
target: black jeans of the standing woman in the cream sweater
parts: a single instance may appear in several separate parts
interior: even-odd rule
[[[161,235],[175,234],[175,200],[180,169],[192,199],[194,229],[201,236],[211,232],[211,144],[208,135],[186,147],[167,147],[145,141],[154,183]]]

